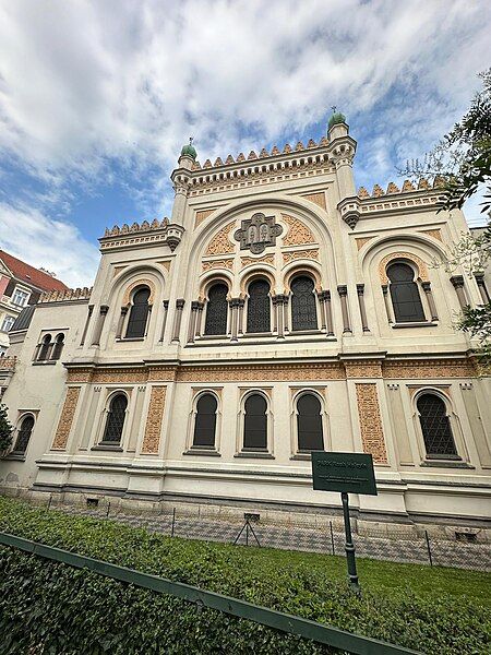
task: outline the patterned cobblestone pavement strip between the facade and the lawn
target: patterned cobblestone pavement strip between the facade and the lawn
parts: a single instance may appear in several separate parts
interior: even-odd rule
[[[101,510],[82,510],[74,507],[61,507],[68,513],[106,517]],[[303,550],[345,555],[344,533],[330,525],[325,529],[298,525],[279,526],[268,524],[229,523],[223,520],[209,520],[176,514],[122,514],[108,516],[136,527],[145,527],[155,533],[187,539],[205,541],[235,543],[249,546],[282,548],[284,550]],[[173,526],[172,526],[173,524]],[[491,546],[489,544],[466,544],[430,537],[395,538],[354,535],[357,555],[372,559],[408,563],[431,563],[439,567],[456,567],[476,571],[491,571]]]

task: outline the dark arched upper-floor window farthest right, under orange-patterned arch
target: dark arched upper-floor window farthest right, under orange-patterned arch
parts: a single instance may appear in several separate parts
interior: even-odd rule
[[[387,269],[391,281],[391,298],[396,323],[420,323],[426,321],[415,272],[404,262],[391,264]]]

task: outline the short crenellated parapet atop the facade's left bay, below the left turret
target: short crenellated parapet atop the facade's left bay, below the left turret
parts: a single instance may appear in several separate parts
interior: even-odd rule
[[[173,252],[181,242],[184,228],[181,225],[170,223],[168,218],[158,221],[155,218],[152,223],[124,223],[121,227],[115,225],[112,228],[106,228],[104,236],[100,237],[100,250],[115,250],[119,248],[140,247],[142,243],[168,246]]]

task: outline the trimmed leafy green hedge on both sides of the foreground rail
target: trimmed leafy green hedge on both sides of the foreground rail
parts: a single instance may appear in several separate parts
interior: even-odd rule
[[[170,539],[0,498],[0,529],[431,654],[488,653],[490,611],[452,597],[351,594],[308,567],[251,565],[246,547]],[[258,558],[254,563],[256,564]],[[0,652],[330,653],[250,621],[0,547]]]

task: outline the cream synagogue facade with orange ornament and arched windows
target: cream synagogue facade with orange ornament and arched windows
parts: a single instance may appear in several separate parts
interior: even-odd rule
[[[171,217],[107,229],[94,287],[14,324],[2,491],[328,515],[311,451],[366,452],[360,522],[484,535],[491,384],[455,322],[491,279],[435,263],[468,231],[438,184],[357,192],[356,145],[334,115],[282,151],[184,146]]]

